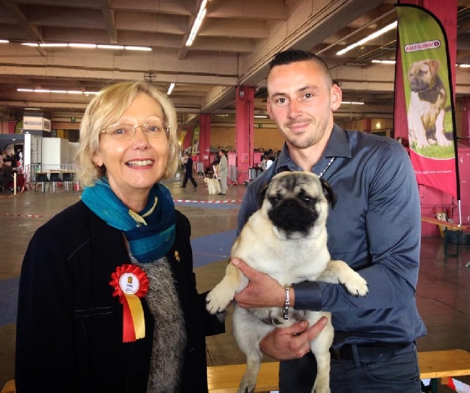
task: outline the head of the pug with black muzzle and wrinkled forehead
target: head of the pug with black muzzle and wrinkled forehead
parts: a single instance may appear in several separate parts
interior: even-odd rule
[[[282,172],[274,176],[262,200],[262,212],[281,239],[300,239],[325,225],[333,190],[310,172]]]

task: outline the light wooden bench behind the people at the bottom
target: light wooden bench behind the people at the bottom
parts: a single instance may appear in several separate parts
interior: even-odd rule
[[[446,385],[449,378],[470,375],[470,353],[462,349],[445,351],[418,352],[420,378],[431,379],[429,388],[437,393],[438,380]],[[236,393],[245,364],[229,366],[210,366],[207,368],[210,393]],[[255,392],[271,392],[278,390],[278,361],[261,364]],[[15,393],[15,381],[6,382],[1,393]]]

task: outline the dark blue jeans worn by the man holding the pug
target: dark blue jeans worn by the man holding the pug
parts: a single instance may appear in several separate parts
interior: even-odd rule
[[[310,393],[316,362],[309,353],[302,359],[281,361],[280,393]],[[399,349],[387,361],[331,359],[331,393],[421,393],[416,345]]]

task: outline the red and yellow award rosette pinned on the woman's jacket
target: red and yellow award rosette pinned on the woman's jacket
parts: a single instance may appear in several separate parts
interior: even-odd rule
[[[111,278],[109,285],[114,288],[113,296],[119,296],[123,305],[123,342],[144,338],[145,319],[140,298],[149,289],[147,274],[136,265],[122,265],[116,267]]]

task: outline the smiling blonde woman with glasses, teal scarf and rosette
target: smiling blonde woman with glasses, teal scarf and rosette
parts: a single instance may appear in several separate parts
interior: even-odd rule
[[[224,327],[196,291],[189,221],[160,183],[177,169],[176,130],[166,94],[143,81],[91,100],[81,200],[34,233],[22,263],[18,393],[208,392],[205,336]]]

